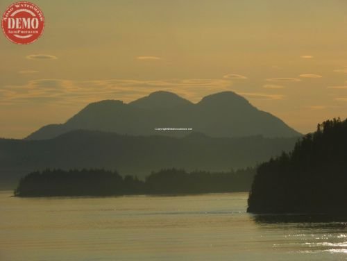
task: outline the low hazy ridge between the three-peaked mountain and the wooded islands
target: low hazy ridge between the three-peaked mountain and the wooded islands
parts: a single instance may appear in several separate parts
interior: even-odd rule
[[[92,130],[73,130],[49,140],[0,139],[0,184],[13,186],[29,172],[46,168],[117,169],[139,177],[171,167],[230,171],[289,151],[296,140],[260,135],[214,138],[203,133],[130,136]]]

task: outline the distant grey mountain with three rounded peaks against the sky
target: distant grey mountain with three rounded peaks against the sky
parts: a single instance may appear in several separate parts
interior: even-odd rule
[[[192,130],[155,130],[192,128]],[[294,137],[301,135],[282,120],[258,110],[234,92],[220,92],[192,103],[171,92],[153,92],[130,103],[107,100],[90,103],[65,124],[40,128],[26,140],[45,140],[71,130],[101,130],[121,135],[184,137],[204,133],[211,137]]]

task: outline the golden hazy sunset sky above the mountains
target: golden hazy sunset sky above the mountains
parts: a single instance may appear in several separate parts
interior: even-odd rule
[[[158,90],[193,102],[230,90],[301,133],[347,117],[345,0],[33,3],[46,22],[39,40],[0,35],[0,137]]]

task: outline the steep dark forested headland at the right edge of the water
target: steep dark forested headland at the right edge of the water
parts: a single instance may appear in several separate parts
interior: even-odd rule
[[[346,202],[347,120],[332,119],[258,167],[248,212],[346,213]]]

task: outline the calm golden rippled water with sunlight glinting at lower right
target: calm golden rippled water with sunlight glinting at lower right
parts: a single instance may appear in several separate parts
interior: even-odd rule
[[[246,213],[247,196],[1,192],[0,260],[347,260],[343,220],[269,221]]]

